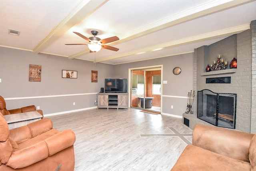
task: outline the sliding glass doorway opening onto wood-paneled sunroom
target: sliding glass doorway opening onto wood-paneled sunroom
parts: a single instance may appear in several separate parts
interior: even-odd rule
[[[162,66],[130,70],[130,107],[162,113]]]

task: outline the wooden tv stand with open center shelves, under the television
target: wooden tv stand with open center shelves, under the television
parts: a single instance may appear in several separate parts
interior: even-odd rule
[[[128,108],[128,93],[98,93],[98,108]]]

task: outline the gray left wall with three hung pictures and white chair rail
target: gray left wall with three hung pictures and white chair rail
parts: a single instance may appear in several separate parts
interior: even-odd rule
[[[94,100],[104,87],[104,78],[114,75],[112,65],[0,47],[0,95],[7,109],[40,106],[44,114],[96,107]],[[42,66],[41,82],[29,82],[29,64]],[[78,72],[77,79],[62,78],[62,70]],[[98,83],[91,82],[98,71]],[[21,98],[20,97],[25,97]],[[76,105],[73,105],[73,102]]]

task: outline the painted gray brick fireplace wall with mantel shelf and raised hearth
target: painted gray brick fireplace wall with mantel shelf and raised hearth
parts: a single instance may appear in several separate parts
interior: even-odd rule
[[[244,132],[256,132],[256,20],[251,28],[220,40],[209,46],[194,50],[194,90],[209,89],[216,93],[236,93],[236,129]],[[237,69],[206,72],[207,64],[212,64],[217,55],[230,62],[237,59]],[[230,83],[206,84],[208,78],[230,77]],[[197,94],[197,93],[195,93]],[[184,124],[191,129],[200,123],[212,125],[197,118],[197,95],[194,98],[193,114],[184,113]]]

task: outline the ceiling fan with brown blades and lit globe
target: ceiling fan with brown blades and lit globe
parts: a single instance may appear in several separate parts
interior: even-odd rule
[[[90,52],[98,52],[101,48],[113,50],[113,51],[119,50],[118,48],[114,48],[112,46],[106,45],[107,43],[115,42],[115,41],[119,40],[119,38],[117,36],[113,36],[113,37],[101,40],[100,38],[96,37],[98,34],[98,31],[95,31],[95,30],[91,31],[93,37],[90,37],[90,38],[87,38],[86,36],[84,36],[78,32],[73,32],[73,33],[80,36],[84,40],[87,40],[89,42],[89,44],[65,44],[65,45],[88,45]]]

